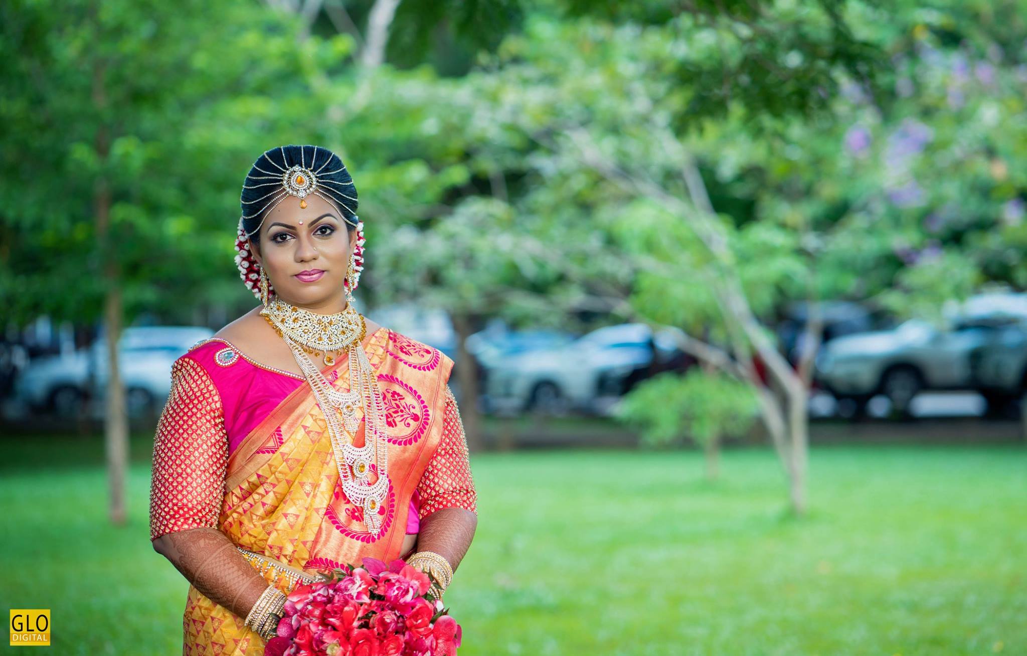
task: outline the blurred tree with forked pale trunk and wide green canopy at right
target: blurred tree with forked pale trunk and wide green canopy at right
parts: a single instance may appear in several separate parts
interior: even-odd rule
[[[910,184],[911,171],[929,168],[925,176],[939,197],[990,207],[980,224],[985,230],[994,226],[996,195],[1006,222],[1019,225],[1023,186],[1005,182],[1005,162],[1022,139],[1022,100],[1012,83],[1023,74],[1022,53],[1006,53],[997,39],[982,36],[974,17],[1004,15],[1018,24],[1012,8],[1020,4],[976,3],[949,12],[907,3],[898,17],[864,2],[618,5],[618,16],[644,12],[634,16],[640,23],[533,16],[526,34],[499,50],[490,87],[496,120],[542,147],[532,155],[536,200],[522,205],[561,216],[573,206],[579,217],[563,223],[569,232],[561,243],[577,243],[587,230],[610,235],[603,245],[621,249],[620,266],[631,277],[619,287],[627,303],[612,306],[623,315],[712,338],[688,337],[682,346],[757,390],[796,511],[806,506],[817,302],[869,299],[911,313],[961,298],[984,277],[988,258],[978,259],[981,250],[966,243],[945,254],[936,241],[915,266],[897,257],[903,239],[923,242],[907,214],[924,195]],[[930,77],[939,59],[920,43],[931,34],[925,18],[950,37],[969,26],[953,42],[990,52],[990,62],[975,65],[978,82],[1009,80],[1007,95],[983,93],[974,110],[985,118],[977,131],[995,132],[990,146],[958,127],[968,115],[939,112],[929,94],[920,104],[908,101],[914,85],[904,81],[905,65],[896,64],[912,61],[917,78]],[[939,47],[940,37],[931,45]],[[998,62],[1004,74],[996,72]],[[863,142],[876,142],[849,129],[861,111],[853,106],[890,134],[886,165],[860,159]],[[911,113],[953,130],[950,150],[940,152],[943,162],[958,166],[919,157],[935,129],[911,122]],[[999,144],[999,134],[1013,137],[1011,145]],[[968,158],[963,136],[974,144]],[[989,148],[1006,155],[989,157]],[[977,168],[984,180],[973,172],[975,160],[984,164]],[[584,280],[585,288],[617,296],[609,277]],[[789,299],[814,310],[794,368],[768,324],[774,307]]]

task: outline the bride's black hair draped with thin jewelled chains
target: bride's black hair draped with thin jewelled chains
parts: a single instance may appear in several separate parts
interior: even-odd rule
[[[258,157],[242,182],[239,197],[242,229],[254,244],[259,243],[258,228],[264,217],[288,195],[281,181],[293,166],[303,166],[313,173],[317,187],[311,193],[326,198],[341,211],[343,216],[340,219],[345,222],[346,230],[352,233],[358,221],[356,187],[339,156],[320,146],[278,146]]]

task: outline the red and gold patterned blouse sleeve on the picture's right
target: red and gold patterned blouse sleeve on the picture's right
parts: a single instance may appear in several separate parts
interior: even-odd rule
[[[470,475],[467,438],[449,385],[446,386],[443,437],[421,475],[417,492],[420,495],[418,516],[421,519],[442,508],[464,508],[478,512],[478,493]]]

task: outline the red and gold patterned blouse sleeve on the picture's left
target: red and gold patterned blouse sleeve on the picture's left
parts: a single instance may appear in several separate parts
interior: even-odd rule
[[[221,396],[206,370],[183,356],[157,423],[150,485],[150,540],[217,528],[225,497],[228,433]]]

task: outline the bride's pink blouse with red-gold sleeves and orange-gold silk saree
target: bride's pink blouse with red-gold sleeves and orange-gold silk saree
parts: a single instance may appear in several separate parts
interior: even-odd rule
[[[388,433],[389,486],[377,534],[339,485],[325,416],[306,381],[212,338],[172,368],[172,392],[154,441],[150,539],[211,527],[243,549],[328,574],[365,556],[387,563],[409,555],[400,553],[404,537],[435,510],[477,512],[463,425],[448,385],[453,360],[384,327],[365,338],[364,347],[382,391]],[[348,389],[346,357],[322,373]],[[363,419],[354,443],[364,443]],[[290,591],[273,569],[264,577]],[[264,651],[264,641],[242,618],[192,585],[183,631],[184,654]]]

